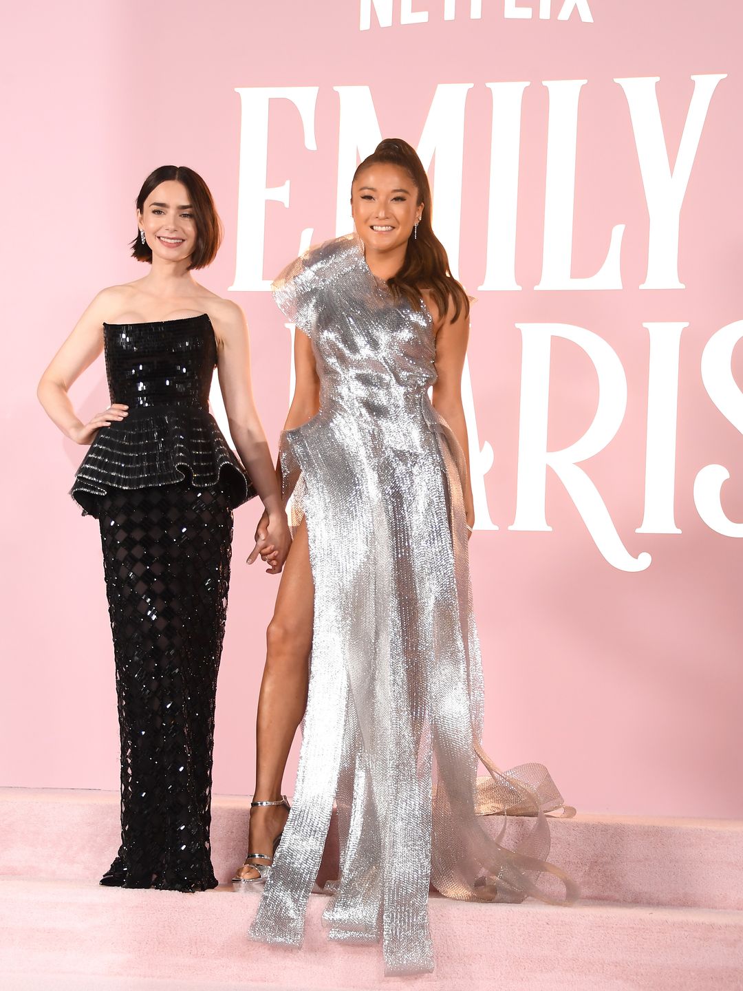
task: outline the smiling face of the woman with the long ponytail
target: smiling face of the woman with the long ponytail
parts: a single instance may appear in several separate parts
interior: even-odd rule
[[[356,177],[351,211],[367,252],[404,251],[423,204],[406,169],[374,163]]]

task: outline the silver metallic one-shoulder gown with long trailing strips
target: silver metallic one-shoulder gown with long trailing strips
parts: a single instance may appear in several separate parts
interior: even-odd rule
[[[481,751],[464,459],[428,397],[428,311],[392,297],[356,236],[310,249],[273,292],[311,338],[321,384],[320,412],[280,453],[315,612],[293,805],[251,936],[301,944],[335,803],[329,937],[381,939],[388,973],[431,970],[429,885],[470,901],[573,897],[545,863],[544,813],[563,800],[542,765],[499,772]],[[488,811],[535,819],[509,850],[478,819]],[[565,897],[537,886],[543,872]]]

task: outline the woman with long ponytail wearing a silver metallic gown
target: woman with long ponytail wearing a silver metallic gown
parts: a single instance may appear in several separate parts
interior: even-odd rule
[[[301,331],[279,455],[295,539],[268,628],[251,852],[236,881],[265,883],[251,936],[299,945],[335,804],[329,936],[381,939],[387,972],[411,973],[433,968],[430,884],[494,902],[574,891],[545,862],[544,813],[563,804],[546,769],[499,772],[480,746],[461,399],[470,300],[409,145],[383,141],[359,166],[352,208],[356,235],[310,249],[273,284]],[[281,776],[302,715],[287,818]],[[509,850],[486,812],[534,825]],[[543,872],[565,897],[538,886]]]

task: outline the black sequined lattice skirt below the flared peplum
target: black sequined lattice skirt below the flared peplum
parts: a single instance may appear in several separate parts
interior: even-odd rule
[[[101,884],[217,884],[209,826],[232,510],[220,488],[114,490],[99,509],[121,731],[118,856]]]

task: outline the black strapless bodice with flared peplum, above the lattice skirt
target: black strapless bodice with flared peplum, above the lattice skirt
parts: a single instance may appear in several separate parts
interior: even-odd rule
[[[217,359],[206,313],[176,320],[103,325],[111,402],[129,415],[102,427],[77,470],[70,495],[97,516],[113,490],[219,483],[234,509],[256,495],[209,412]]]

